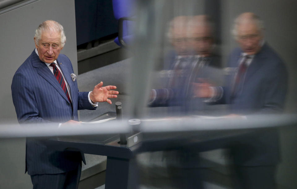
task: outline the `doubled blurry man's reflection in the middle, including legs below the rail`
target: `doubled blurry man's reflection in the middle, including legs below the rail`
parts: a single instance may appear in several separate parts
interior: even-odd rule
[[[150,106],[170,107],[171,115],[200,115],[205,103],[193,94],[193,83],[211,78],[214,68],[220,65],[219,56],[214,54],[213,24],[208,16],[178,16],[169,25],[168,37],[174,48],[166,61],[170,69],[166,88],[153,89]],[[165,63],[165,64],[166,64]],[[203,112],[202,112],[203,111]],[[162,159],[174,187],[201,188],[198,177],[198,153],[183,149],[163,152]]]

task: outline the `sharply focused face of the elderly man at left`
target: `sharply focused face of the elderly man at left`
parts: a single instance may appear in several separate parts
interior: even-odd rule
[[[36,40],[34,38],[34,40]],[[41,35],[38,45],[35,43],[37,48],[39,59],[45,63],[53,63],[57,60],[61,47],[61,34],[53,31],[44,31]]]

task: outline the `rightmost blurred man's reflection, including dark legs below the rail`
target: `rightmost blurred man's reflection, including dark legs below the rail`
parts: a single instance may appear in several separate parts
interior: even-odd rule
[[[233,34],[240,48],[230,54],[230,74],[226,87],[217,87],[217,103],[230,104],[233,116],[281,113],[287,92],[286,66],[264,41],[263,22],[253,13],[243,13],[235,19]],[[212,97],[207,92],[198,96]],[[278,143],[274,129],[255,131],[232,143],[238,188],[275,188]]]

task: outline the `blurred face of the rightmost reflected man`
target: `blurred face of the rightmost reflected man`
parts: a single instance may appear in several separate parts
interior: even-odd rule
[[[260,51],[263,36],[255,23],[248,22],[239,24],[236,37],[243,52],[253,55]]]

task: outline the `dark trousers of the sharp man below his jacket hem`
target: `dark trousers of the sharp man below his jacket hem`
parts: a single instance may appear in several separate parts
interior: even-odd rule
[[[31,175],[33,189],[77,189],[80,181],[81,163],[77,169],[60,174]]]

